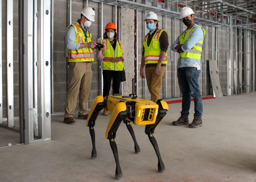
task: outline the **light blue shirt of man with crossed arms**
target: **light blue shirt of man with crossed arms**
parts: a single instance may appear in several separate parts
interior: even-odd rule
[[[195,28],[198,25],[194,25],[191,28]],[[189,30],[189,29],[188,29]],[[186,33],[188,32],[188,30],[186,29],[183,34],[186,35]],[[184,36],[183,35],[183,36]],[[204,38],[204,33],[203,30],[201,29],[200,26],[198,26],[197,28],[194,29],[194,31],[191,33],[190,37],[188,38],[188,40],[181,46],[181,49],[184,52],[187,52],[189,49],[191,49],[196,42],[198,41],[202,41]],[[177,52],[177,50],[175,49],[175,47],[180,44],[180,37],[178,37],[171,46],[171,50]],[[177,62],[177,68],[182,68],[182,67],[196,67],[197,70],[201,70],[201,66],[200,66],[200,60],[199,59],[194,59],[194,58],[188,58],[188,57],[180,57],[180,59]]]

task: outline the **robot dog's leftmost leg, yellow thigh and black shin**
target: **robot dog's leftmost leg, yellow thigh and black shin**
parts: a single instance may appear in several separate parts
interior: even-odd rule
[[[102,110],[104,104],[103,104],[103,96],[99,95],[95,98],[92,104],[91,112],[88,115],[86,126],[89,127],[90,135],[92,138],[92,154],[91,158],[95,159],[97,157],[97,152],[95,148],[95,132],[94,132],[94,125],[95,120],[97,119],[100,111]]]

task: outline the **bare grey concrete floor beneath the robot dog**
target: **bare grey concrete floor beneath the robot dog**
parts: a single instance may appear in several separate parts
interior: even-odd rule
[[[200,128],[172,126],[180,116],[181,103],[169,105],[154,134],[164,173],[157,171],[157,157],[144,126],[132,125],[141,149],[135,154],[132,138],[121,124],[116,136],[121,181],[256,181],[255,103],[256,93],[203,100],[204,126]],[[85,120],[67,125],[63,115],[52,116],[51,141],[0,149],[0,181],[116,181],[115,160],[105,139],[109,117],[99,115],[96,121],[95,160],[90,158],[92,143]]]

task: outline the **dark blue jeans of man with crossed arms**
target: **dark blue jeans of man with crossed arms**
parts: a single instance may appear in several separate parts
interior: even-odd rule
[[[194,119],[199,119],[203,114],[203,102],[199,88],[199,76],[201,70],[195,67],[179,68],[177,72],[180,92],[182,94],[182,111],[181,117],[188,117],[191,96],[194,98],[195,113]]]

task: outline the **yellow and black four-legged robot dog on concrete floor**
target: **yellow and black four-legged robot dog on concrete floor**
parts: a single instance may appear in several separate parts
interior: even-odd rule
[[[137,154],[140,153],[140,147],[136,141],[130,122],[137,125],[146,125],[145,133],[148,135],[148,138],[153,145],[158,158],[158,171],[164,172],[164,163],[160,156],[156,139],[152,134],[155,132],[156,126],[167,113],[168,104],[161,99],[154,103],[148,99],[137,98],[137,96],[134,94],[134,78],[132,79],[132,94],[129,96],[113,95],[106,96],[105,98],[102,96],[97,96],[92,104],[92,109],[86,123],[86,125],[89,127],[92,138],[92,159],[97,157],[95,148],[95,132],[93,127],[95,125],[95,120],[103,107],[112,113],[106,130],[106,139],[109,140],[110,147],[116,161],[116,179],[121,179],[123,176],[119,164],[117,146],[114,140],[116,138],[116,131],[122,121],[126,124],[127,129],[132,135],[132,139],[134,141],[134,150]]]

